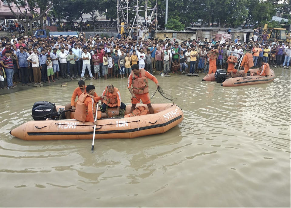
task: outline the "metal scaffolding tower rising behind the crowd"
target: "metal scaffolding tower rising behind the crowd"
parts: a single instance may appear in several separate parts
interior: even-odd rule
[[[145,0],[145,6],[141,6],[138,5],[139,0],[136,0],[136,5],[131,6],[128,5],[128,1],[129,0],[117,0],[117,32],[119,33],[119,27],[123,27],[124,25],[121,25],[120,23],[124,21],[127,21],[128,24],[128,29],[127,29],[127,34],[129,36],[131,36],[131,32],[133,29],[136,29],[137,32],[137,37],[138,37],[138,28],[143,27],[144,31],[146,33],[145,38],[147,38],[147,24],[143,25],[143,21],[140,18],[140,12],[145,12],[144,15],[144,21],[147,20],[147,17],[149,18],[149,20],[151,20],[153,18],[153,16],[155,15],[155,18],[157,19],[157,0]],[[153,3],[156,2],[154,7],[148,7],[148,1],[152,1]],[[121,7],[120,6],[120,2],[126,2],[127,3],[127,7]],[[132,2],[133,3],[133,2]],[[129,20],[128,19],[128,14],[129,12],[135,12],[135,17],[134,20]],[[151,16],[147,16],[148,13],[151,12]],[[120,14],[121,13],[121,14]],[[130,22],[129,22],[130,21]],[[131,22],[132,21],[132,22]],[[131,24],[130,24],[131,23]],[[156,25],[157,28],[157,25]],[[157,29],[156,29],[156,36],[157,36]]]

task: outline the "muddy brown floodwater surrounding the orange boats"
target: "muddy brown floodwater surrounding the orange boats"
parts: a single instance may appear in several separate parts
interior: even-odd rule
[[[289,69],[266,84],[221,87],[157,77],[177,98],[181,124],[135,139],[24,141],[9,131],[36,101],[64,105],[77,81],[0,96],[1,207],[290,207]],[[130,103],[126,79],[114,84]],[[155,84],[150,81],[150,95]],[[153,103],[168,103],[160,94]]]

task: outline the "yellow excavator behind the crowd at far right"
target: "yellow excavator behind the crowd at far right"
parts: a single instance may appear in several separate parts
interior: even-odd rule
[[[253,36],[255,35],[256,29],[254,29]],[[288,33],[285,28],[268,28],[268,24],[264,25],[263,34],[267,32],[267,41],[274,41],[276,39],[277,41],[286,41],[290,43],[290,34],[288,36]],[[257,34],[259,35],[259,34]]]

